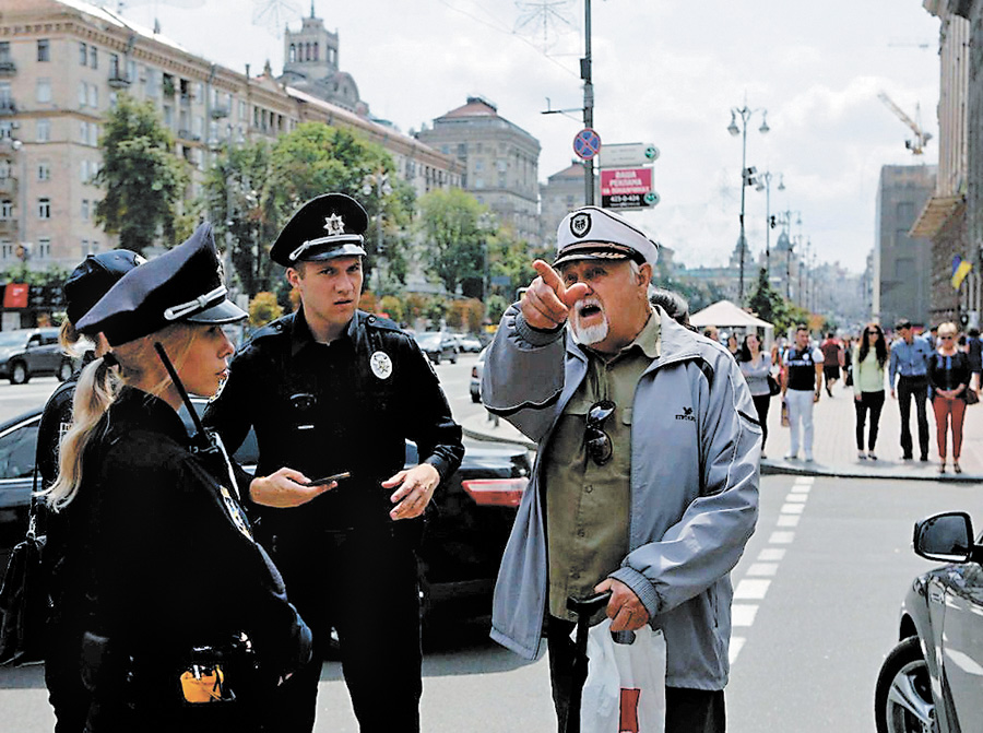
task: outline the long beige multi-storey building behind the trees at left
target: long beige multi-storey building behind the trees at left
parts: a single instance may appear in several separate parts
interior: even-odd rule
[[[305,23],[311,20],[320,23]],[[336,36],[334,43],[336,59]],[[71,268],[86,253],[116,245],[94,222],[102,191],[92,178],[100,165],[104,116],[120,93],[151,101],[159,110],[175,134],[175,154],[193,166],[191,198],[225,145],[272,141],[305,120],[352,129],[380,143],[417,192],[461,182],[452,157],[285,86],[269,66],[258,76],[248,66],[245,73],[233,71],[80,0],[3,0],[0,269],[24,252],[32,268]]]

